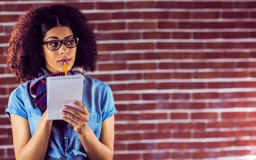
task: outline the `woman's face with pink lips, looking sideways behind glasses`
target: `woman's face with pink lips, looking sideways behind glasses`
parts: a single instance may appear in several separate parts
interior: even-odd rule
[[[45,37],[44,42],[48,41],[63,41],[69,38],[74,38],[73,32],[69,27],[58,26],[50,29]],[[67,42],[70,44],[72,42]],[[75,42],[73,42],[75,43]],[[56,45],[56,44],[48,44]],[[68,45],[67,45],[68,46]],[[43,45],[43,52],[45,58],[45,67],[50,73],[64,73],[64,61],[67,63],[67,72],[73,67],[76,58],[76,47],[67,48],[63,43],[57,50],[49,50],[47,45]]]

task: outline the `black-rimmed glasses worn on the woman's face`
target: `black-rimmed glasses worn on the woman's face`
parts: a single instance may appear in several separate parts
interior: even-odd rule
[[[61,44],[64,44],[67,48],[74,48],[78,44],[79,38],[68,38],[63,41],[48,41],[48,42],[43,42],[43,44],[47,45],[47,48],[49,50],[57,50],[61,47]]]

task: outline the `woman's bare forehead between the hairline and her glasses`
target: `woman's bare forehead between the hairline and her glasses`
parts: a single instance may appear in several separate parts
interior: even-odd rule
[[[73,35],[72,30],[69,27],[66,26],[58,26],[50,29],[45,37],[44,40],[46,40],[49,37],[58,37],[58,39],[64,39],[65,37]]]

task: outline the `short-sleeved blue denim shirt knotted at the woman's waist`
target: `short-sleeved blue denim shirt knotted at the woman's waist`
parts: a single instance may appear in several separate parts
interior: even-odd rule
[[[10,95],[6,113],[15,114],[28,119],[31,135],[43,115],[40,108],[35,107],[34,98],[29,93],[31,81],[21,84]],[[89,111],[88,125],[99,140],[102,122],[115,114],[113,93],[102,81],[84,76],[82,103]],[[73,128],[59,127],[52,123],[45,160],[88,160],[86,151]]]

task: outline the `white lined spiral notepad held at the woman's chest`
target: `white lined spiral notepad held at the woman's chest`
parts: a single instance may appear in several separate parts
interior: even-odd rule
[[[64,110],[63,105],[68,105],[81,111],[72,101],[82,101],[83,80],[83,75],[47,77],[47,108],[49,120],[62,119],[61,117],[64,116],[61,114],[61,110]]]

